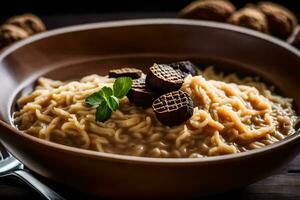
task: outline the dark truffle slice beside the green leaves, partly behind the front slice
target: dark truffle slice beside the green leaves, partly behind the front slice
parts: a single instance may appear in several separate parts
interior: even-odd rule
[[[133,79],[131,89],[127,94],[130,102],[144,107],[150,107],[158,96],[159,94],[146,88],[144,78]]]

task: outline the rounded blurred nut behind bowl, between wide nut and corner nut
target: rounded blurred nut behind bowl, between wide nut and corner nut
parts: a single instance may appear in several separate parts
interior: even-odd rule
[[[234,25],[250,28],[263,33],[268,32],[266,16],[255,7],[245,7],[236,11],[228,22]]]

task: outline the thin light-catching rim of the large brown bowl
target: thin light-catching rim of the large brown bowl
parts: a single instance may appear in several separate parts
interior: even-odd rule
[[[65,34],[75,31],[86,31],[92,29],[101,29],[101,28],[113,28],[113,27],[125,27],[125,26],[145,26],[145,25],[187,25],[187,26],[201,26],[215,29],[222,29],[226,31],[233,31],[240,34],[248,35],[251,37],[256,37],[262,39],[264,41],[275,44],[294,55],[300,58],[300,51],[296,48],[292,47],[288,43],[281,41],[272,36],[253,31],[250,29],[237,27],[230,24],[219,23],[219,22],[211,22],[204,20],[190,20],[190,19],[173,19],[173,18],[155,18],[155,19],[134,19],[134,20],[118,20],[118,21],[108,21],[108,22],[98,22],[98,23],[89,23],[82,25],[74,25],[69,27],[58,28],[50,31],[46,31],[43,33],[36,34],[31,36],[25,40],[16,42],[15,44],[5,48],[0,54],[0,63],[8,56],[10,53],[15,50],[33,43],[38,40],[42,40],[48,37],[52,37],[59,34]],[[22,84],[22,83],[20,83]],[[10,106],[12,101],[9,101],[8,105]],[[10,116],[11,117],[11,116]],[[130,162],[130,163],[147,163],[147,164],[205,164],[212,163],[218,161],[228,161],[235,160],[240,158],[247,158],[249,156],[254,156],[258,154],[263,154],[268,151],[272,151],[283,147],[293,141],[300,141],[300,131],[296,131],[292,135],[287,136],[284,140],[279,141],[277,143],[268,145],[266,147],[260,149],[253,149],[246,152],[236,153],[236,154],[228,154],[228,155],[219,155],[212,157],[200,157],[200,158],[152,158],[152,157],[138,157],[138,156],[129,156],[129,155],[121,155],[121,154],[112,154],[112,153],[104,153],[104,152],[96,152],[92,150],[80,149],[76,147],[66,146],[50,141],[46,141],[40,138],[36,138],[34,136],[24,134],[19,131],[15,126],[13,126],[11,120],[10,122],[4,122],[0,120],[0,129],[5,128],[9,129],[11,132],[14,132],[20,137],[24,137],[25,139],[31,140],[32,142],[38,143],[40,145],[44,145],[48,148],[53,148],[59,151],[67,151],[67,153],[77,154],[78,156],[85,157],[93,157],[98,159],[109,159],[119,162]]]

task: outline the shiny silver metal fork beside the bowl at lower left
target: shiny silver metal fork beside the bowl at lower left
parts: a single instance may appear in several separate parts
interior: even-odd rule
[[[64,200],[59,194],[37,180],[24,169],[24,165],[10,155],[0,143],[0,178],[17,178],[48,200]]]

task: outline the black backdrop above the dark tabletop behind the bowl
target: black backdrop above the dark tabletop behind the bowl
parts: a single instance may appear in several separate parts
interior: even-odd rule
[[[273,0],[300,14],[298,0]],[[191,0],[1,0],[1,19],[33,12],[38,15],[111,13],[111,12],[177,12]],[[240,8],[258,1],[231,0]]]

